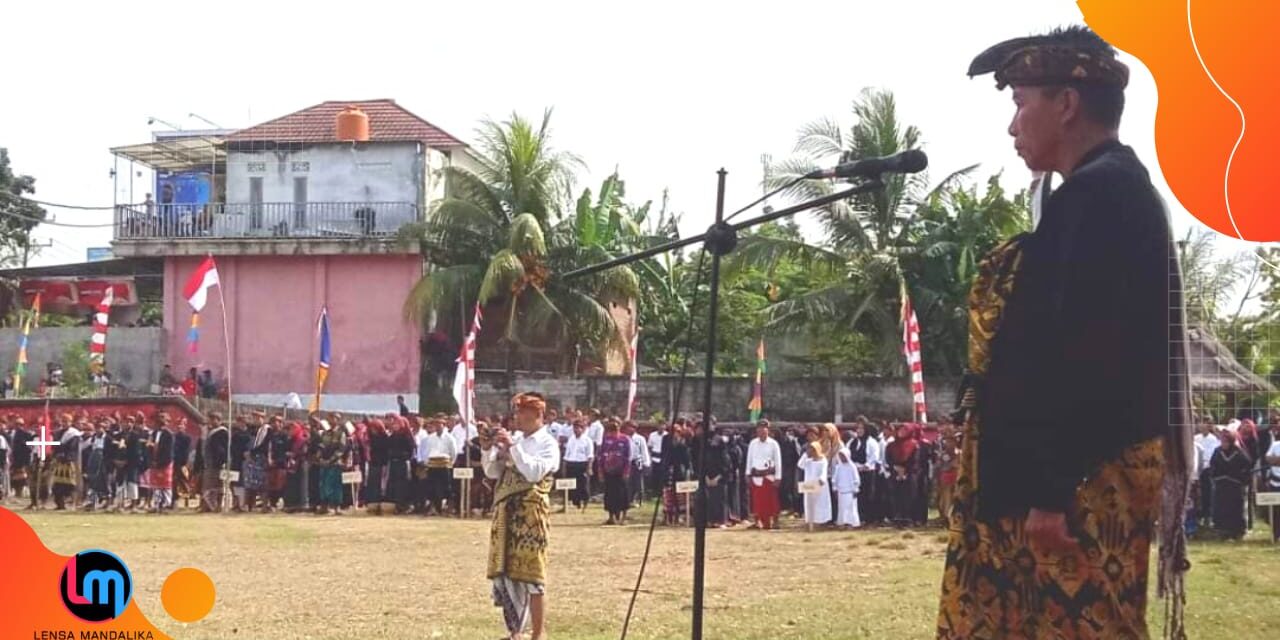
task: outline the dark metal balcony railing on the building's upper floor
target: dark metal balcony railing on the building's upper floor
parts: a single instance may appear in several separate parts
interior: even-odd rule
[[[378,238],[417,219],[413,202],[120,205],[115,239]]]

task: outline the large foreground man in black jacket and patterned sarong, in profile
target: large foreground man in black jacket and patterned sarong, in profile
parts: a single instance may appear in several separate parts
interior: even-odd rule
[[[1147,169],[1120,143],[1128,68],[1087,28],[998,44],[1014,147],[1062,184],[969,296],[964,445],[938,637],[1147,637],[1158,520],[1181,627],[1192,465],[1181,276]]]

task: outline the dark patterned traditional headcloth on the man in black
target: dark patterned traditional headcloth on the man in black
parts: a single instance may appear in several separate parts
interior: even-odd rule
[[[996,74],[996,88],[1094,83],[1124,88],[1129,68],[1115,49],[1087,27],[1055,29],[1046,36],[1011,38],[988,47],[969,63],[969,77]]]

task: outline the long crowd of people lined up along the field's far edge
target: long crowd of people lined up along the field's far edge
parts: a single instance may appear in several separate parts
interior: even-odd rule
[[[223,508],[223,475],[233,474],[233,511],[342,513],[370,507],[385,513],[460,515],[462,481],[456,467],[480,468],[484,433],[506,428],[489,416],[463,428],[458,416],[417,416],[402,407],[385,416],[315,413],[306,424],[251,412],[230,425],[211,412],[193,436],[186,419],[166,412],[56,416],[40,461],[29,443],[40,433],[23,419],[0,420],[0,495],[26,497],[29,507],[84,511],[151,511],[179,506]],[[1198,527],[1240,538],[1251,490],[1280,490],[1280,413],[1270,428],[1252,420],[1215,426],[1204,420],[1196,436],[1198,483],[1188,518]],[[557,477],[575,479],[573,508],[603,503],[607,525],[627,522],[646,498],[660,499],[663,522],[689,524],[689,494],[678,484],[705,477],[708,526],[772,529],[759,504],[803,518],[809,527],[922,526],[931,508],[946,513],[956,480],[961,430],[934,425],[874,422],[859,416],[851,429],[833,424],[773,428],[754,433],[714,426],[700,452],[700,415],[676,419],[644,434],[635,421],[599,410],[549,410],[548,433],[561,445]],[[351,471],[360,471],[356,477]],[[344,474],[347,474],[344,476]],[[468,512],[488,513],[492,483],[481,474],[470,486]],[[1253,485],[1260,479],[1258,485]],[[753,490],[774,488],[776,498]],[[1266,517],[1266,513],[1263,513]],[[1280,534],[1280,524],[1276,524]]]

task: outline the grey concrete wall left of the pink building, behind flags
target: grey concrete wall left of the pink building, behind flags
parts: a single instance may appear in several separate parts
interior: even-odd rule
[[[90,326],[49,326],[32,329],[27,342],[27,375],[23,389],[35,389],[49,362],[61,362],[67,347],[88,343]],[[18,364],[22,329],[0,329],[0,372]],[[106,334],[106,371],[115,383],[146,390],[160,379],[164,366],[165,332],[159,326],[111,326]],[[175,375],[182,375],[175,372]]]

